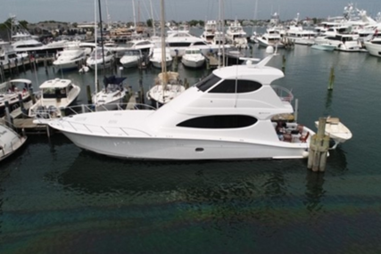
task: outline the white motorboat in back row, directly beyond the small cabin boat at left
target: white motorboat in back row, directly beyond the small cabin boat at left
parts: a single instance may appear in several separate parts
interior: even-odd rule
[[[79,67],[80,63],[86,61],[86,52],[79,47],[78,43],[68,44],[58,57],[53,61],[57,70],[72,70]]]

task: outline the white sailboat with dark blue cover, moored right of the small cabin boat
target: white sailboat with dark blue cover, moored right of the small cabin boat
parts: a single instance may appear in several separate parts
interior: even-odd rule
[[[126,78],[104,77],[104,88],[92,96],[95,111],[113,111],[123,102],[128,90],[123,86]]]

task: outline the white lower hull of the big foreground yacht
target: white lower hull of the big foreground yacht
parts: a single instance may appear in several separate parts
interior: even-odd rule
[[[244,143],[183,138],[139,138],[79,135],[62,130],[82,149],[133,160],[252,160],[302,159],[307,144]]]

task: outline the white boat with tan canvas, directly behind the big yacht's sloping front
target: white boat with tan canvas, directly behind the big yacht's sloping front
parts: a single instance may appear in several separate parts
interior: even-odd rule
[[[186,90],[181,80],[178,78],[178,72],[162,72],[155,79],[155,84],[151,87],[146,96],[153,107],[159,108],[170,102],[179,94]]]

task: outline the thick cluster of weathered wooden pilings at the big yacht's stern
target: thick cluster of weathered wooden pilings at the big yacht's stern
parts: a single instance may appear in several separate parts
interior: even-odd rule
[[[311,137],[307,168],[311,168],[313,172],[326,170],[329,149],[329,136],[325,135],[326,122],[326,118],[319,118],[318,133]]]

